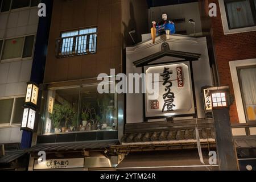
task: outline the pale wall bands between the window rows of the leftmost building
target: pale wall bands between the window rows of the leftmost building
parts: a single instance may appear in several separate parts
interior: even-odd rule
[[[0,13],[0,40],[36,35],[38,28],[37,7],[24,7]],[[0,98],[24,96],[26,82],[30,80],[32,58],[1,60]],[[20,121],[21,122],[21,121]],[[0,128],[0,143],[20,142],[20,126]]]

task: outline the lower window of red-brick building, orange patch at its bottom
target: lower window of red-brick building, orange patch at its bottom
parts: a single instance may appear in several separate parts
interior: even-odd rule
[[[238,68],[238,78],[247,121],[256,121],[256,66]]]

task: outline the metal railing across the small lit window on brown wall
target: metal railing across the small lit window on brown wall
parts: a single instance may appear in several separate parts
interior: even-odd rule
[[[96,53],[97,33],[59,38],[56,41],[56,57],[72,57]]]

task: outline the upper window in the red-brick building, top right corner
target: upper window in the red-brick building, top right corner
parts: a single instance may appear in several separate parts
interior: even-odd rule
[[[255,0],[225,0],[229,29],[256,25]]]

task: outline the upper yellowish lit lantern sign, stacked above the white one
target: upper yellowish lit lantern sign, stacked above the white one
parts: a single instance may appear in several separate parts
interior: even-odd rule
[[[34,82],[27,83],[25,105],[36,106],[38,104],[39,86]]]

